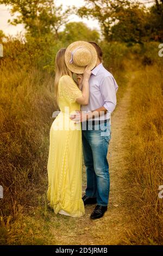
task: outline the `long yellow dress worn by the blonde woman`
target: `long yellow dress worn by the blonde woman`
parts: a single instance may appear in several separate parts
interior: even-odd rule
[[[80,110],[82,92],[68,75],[59,80],[60,113],[50,130],[47,199],[55,214],[84,215],[82,200],[82,129],[70,114]]]

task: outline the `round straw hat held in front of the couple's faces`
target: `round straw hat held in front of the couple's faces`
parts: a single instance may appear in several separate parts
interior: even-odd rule
[[[97,63],[97,52],[89,42],[76,41],[69,45],[65,52],[65,62],[68,69],[76,74],[83,74],[85,67],[90,70]]]

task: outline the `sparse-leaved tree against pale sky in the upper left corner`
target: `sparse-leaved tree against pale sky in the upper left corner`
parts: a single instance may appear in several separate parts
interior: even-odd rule
[[[19,13],[9,22],[12,25],[23,23],[27,34],[35,38],[48,33],[55,33],[58,38],[60,27],[67,23],[72,13],[69,7],[65,11],[62,5],[56,7],[53,0],[0,0],[0,3],[11,5],[11,14]]]

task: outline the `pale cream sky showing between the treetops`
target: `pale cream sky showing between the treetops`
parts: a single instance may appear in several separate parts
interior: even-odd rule
[[[148,0],[139,0],[140,2],[148,2]],[[149,0],[150,2],[150,0]],[[57,5],[62,4],[65,9],[67,5],[75,5],[76,7],[81,7],[84,5],[83,0],[55,0]],[[0,4],[0,30],[2,30],[5,35],[16,35],[17,33],[24,32],[23,25],[12,26],[9,25],[8,20],[12,20],[13,17],[10,15],[10,6],[5,6],[4,4]],[[81,19],[77,15],[71,15],[70,21],[83,21],[90,28],[95,28],[100,31],[98,21],[93,19]]]

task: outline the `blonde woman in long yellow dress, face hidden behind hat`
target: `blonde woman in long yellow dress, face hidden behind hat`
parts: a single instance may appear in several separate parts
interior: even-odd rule
[[[86,43],[86,44],[85,44]],[[84,215],[84,203],[82,200],[82,130],[81,124],[75,124],[70,119],[70,114],[80,110],[80,105],[87,105],[89,102],[89,78],[90,68],[95,65],[86,57],[85,64],[81,69],[78,64],[84,58],[87,42],[80,47],[78,42],[69,47],[76,48],[76,53],[71,51],[67,62],[67,52],[62,48],[55,58],[55,97],[58,101],[60,114],[53,121],[50,131],[50,145],[48,157],[48,191],[47,199],[55,214],[64,214],[72,217]],[[92,49],[92,48],[91,48]],[[94,51],[94,50],[92,50]],[[66,52],[66,54],[65,54]],[[69,68],[70,67],[71,71]],[[83,74],[82,91],[78,88],[72,77],[72,70]]]

